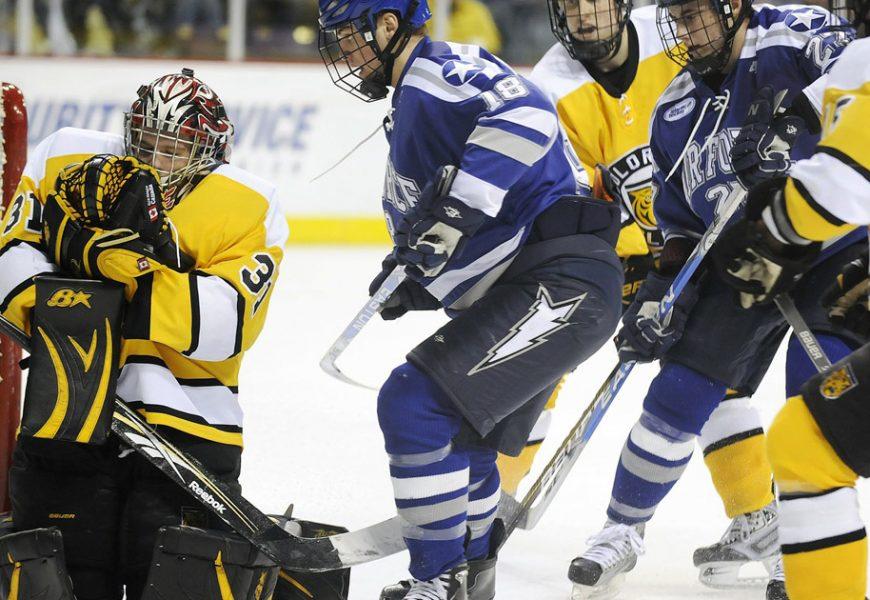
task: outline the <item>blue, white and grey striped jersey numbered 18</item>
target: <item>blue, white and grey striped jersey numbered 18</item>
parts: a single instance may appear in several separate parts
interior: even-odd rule
[[[383,196],[390,233],[443,165],[459,169],[450,195],[488,217],[437,277],[422,280],[445,307],[480,297],[547,207],[589,193],[550,101],[486,50],[424,38],[392,105]]]

